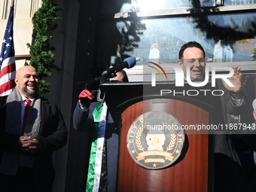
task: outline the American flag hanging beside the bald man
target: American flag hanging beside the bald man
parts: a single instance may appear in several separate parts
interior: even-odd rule
[[[15,87],[16,75],[14,54],[14,6],[11,6],[5,36],[0,52],[0,96],[8,96]]]

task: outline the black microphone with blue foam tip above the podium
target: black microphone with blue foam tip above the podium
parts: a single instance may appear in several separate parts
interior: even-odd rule
[[[136,65],[136,59],[134,57],[128,57],[123,60],[122,63],[120,63],[117,66],[111,67],[108,70],[105,70],[102,72],[102,77],[109,77],[112,73],[120,72],[120,70],[126,68],[130,69],[133,68]]]

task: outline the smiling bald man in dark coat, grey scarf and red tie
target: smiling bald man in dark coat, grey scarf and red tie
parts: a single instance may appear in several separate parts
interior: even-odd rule
[[[52,153],[66,145],[66,124],[59,108],[39,95],[35,68],[21,67],[15,83],[0,98],[0,190],[50,192]]]

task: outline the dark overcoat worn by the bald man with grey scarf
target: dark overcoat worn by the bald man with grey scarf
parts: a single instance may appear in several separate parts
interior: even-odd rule
[[[7,96],[0,98],[0,162],[3,151],[18,150],[19,135],[5,133]],[[15,109],[14,109],[15,110]],[[66,145],[68,131],[62,114],[56,105],[47,99],[41,99],[41,126],[38,139],[41,152],[36,155],[35,161],[35,189],[34,191],[47,191],[45,187],[52,185],[55,171],[52,162],[52,152]]]

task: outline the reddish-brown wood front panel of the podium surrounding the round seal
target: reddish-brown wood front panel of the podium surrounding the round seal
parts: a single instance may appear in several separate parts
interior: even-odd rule
[[[133,160],[127,149],[127,134],[134,120],[149,111],[163,111],[181,125],[207,125],[209,114],[196,105],[175,99],[151,99],[137,102],[122,114],[117,191],[209,191],[209,136],[185,131],[181,155],[163,169],[145,169]]]

